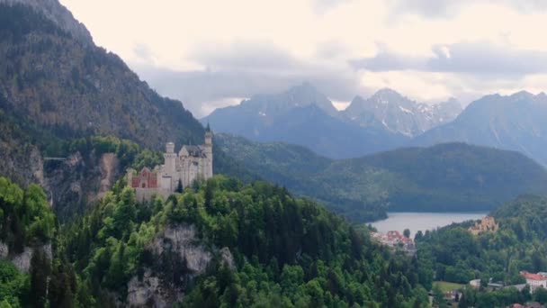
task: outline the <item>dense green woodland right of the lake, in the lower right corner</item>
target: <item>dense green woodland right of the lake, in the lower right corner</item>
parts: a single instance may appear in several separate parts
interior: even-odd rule
[[[453,224],[437,231],[417,233],[418,259],[430,268],[435,280],[467,284],[481,279],[483,286],[490,281],[504,285],[525,284],[521,270],[547,270],[547,199],[521,196],[503,205],[492,215],[499,223],[497,232],[479,236],[467,230],[472,222]],[[523,303],[530,300],[529,289],[486,293],[467,290],[465,306],[488,307]],[[518,297],[520,296],[520,297]],[[538,302],[547,303],[545,292],[534,295]],[[487,304],[489,303],[489,304]]]

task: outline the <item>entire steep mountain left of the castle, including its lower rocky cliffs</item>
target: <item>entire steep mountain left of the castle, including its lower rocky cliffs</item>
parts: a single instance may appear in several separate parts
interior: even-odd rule
[[[132,155],[202,143],[202,124],[181,102],[95,46],[57,0],[0,0],[0,59],[0,175],[47,188],[60,217],[94,202],[127,167],[94,137],[114,136],[108,149]],[[216,172],[246,177],[214,150]]]

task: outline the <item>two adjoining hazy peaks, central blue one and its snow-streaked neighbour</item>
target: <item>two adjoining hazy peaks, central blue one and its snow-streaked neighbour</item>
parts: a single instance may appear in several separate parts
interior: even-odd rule
[[[303,145],[320,155],[345,159],[399,147],[419,132],[453,120],[459,104],[417,104],[390,89],[368,100],[357,96],[338,112],[309,83],[276,95],[254,95],[202,119],[214,131],[258,141]]]

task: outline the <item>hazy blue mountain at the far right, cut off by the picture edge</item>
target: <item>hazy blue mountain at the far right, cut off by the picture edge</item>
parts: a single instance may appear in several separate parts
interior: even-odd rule
[[[518,92],[487,95],[472,102],[453,122],[426,131],[416,145],[464,141],[524,153],[547,164],[547,95]]]

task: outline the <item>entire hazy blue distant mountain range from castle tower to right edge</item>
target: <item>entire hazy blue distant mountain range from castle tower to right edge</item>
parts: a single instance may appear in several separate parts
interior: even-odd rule
[[[520,151],[547,164],[547,95],[487,95],[462,106],[455,99],[421,104],[385,88],[355,96],[337,112],[304,83],[279,95],[255,95],[202,119],[215,131],[256,141],[302,145],[332,159],[382,150],[466,142]]]

